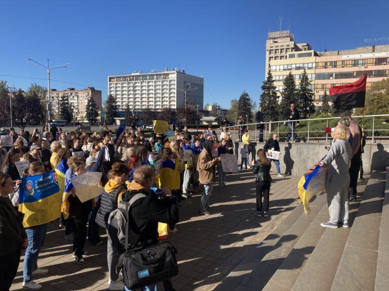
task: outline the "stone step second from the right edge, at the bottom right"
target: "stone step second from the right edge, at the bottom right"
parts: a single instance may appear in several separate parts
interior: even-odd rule
[[[369,178],[331,291],[374,289],[385,174],[383,171],[377,171]]]

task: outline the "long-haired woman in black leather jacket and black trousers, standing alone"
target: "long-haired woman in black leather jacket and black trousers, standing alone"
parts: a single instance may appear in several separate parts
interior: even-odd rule
[[[255,174],[255,189],[257,196],[257,211],[255,211],[254,215],[258,217],[267,217],[267,212],[269,211],[271,163],[266,158],[266,154],[263,149],[259,149],[257,151],[257,157],[258,160],[256,162],[251,162],[253,165],[253,173]]]

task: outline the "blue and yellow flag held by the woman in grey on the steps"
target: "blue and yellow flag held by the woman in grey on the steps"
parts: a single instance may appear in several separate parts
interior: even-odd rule
[[[310,213],[309,200],[326,187],[327,171],[319,162],[305,172],[298,182],[298,196],[304,206],[304,214]]]

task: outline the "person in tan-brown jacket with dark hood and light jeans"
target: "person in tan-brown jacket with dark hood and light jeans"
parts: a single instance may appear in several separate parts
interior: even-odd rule
[[[204,184],[203,196],[200,202],[200,213],[210,215],[207,207],[209,207],[209,198],[212,194],[214,180],[213,167],[220,161],[219,158],[212,159],[212,140],[206,140],[203,144],[203,151],[200,153],[199,161],[197,163],[197,170],[199,171],[199,181]]]

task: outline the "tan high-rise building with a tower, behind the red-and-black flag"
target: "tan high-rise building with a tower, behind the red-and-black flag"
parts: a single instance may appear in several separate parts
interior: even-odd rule
[[[283,80],[291,72],[299,86],[299,80],[304,69],[311,82],[314,91],[314,104],[317,110],[321,109],[324,91],[329,94],[329,88],[346,83],[355,82],[363,74],[367,73],[367,89],[371,84],[389,76],[389,45],[374,45],[357,47],[353,50],[315,52],[309,45],[295,44],[295,49],[288,53],[277,51],[278,55],[271,50],[281,50],[281,43],[293,45],[293,35],[289,31],[274,32],[276,43],[266,40],[266,68],[270,69],[275,80],[277,94],[280,96],[283,90]],[[282,34],[283,33],[283,34]],[[283,36],[283,37],[281,37]],[[279,40],[282,41],[279,41]],[[296,46],[301,50],[297,51]],[[271,56],[277,59],[270,59]],[[283,57],[281,59],[281,57]],[[267,67],[268,66],[268,67]],[[267,75],[267,72],[266,72]],[[266,77],[265,75],[265,77]],[[331,98],[329,97],[331,101]],[[331,103],[331,102],[330,102]]]

